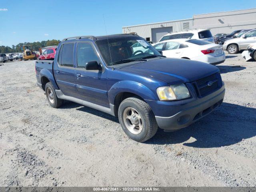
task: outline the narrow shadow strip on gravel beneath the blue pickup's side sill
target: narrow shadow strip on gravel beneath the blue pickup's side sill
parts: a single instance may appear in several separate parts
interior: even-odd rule
[[[80,107],[80,108],[77,108],[77,107]],[[90,114],[108,119],[110,121],[114,121],[116,123],[119,123],[118,118],[116,118],[116,117],[114,117],[110,114],[101,112],[99,110],[96,110],[96,109],[93,109],[93,108],[90,108],[90,107],[83,106],[83,105],[78,104],[78,103],[74,103],[74,102],[71,102],[71,101],[65,101],[64,104],[60,108],[62,108],[62,109],[77,108],[76,110],[87,112],[87,113],[90,113]]]

